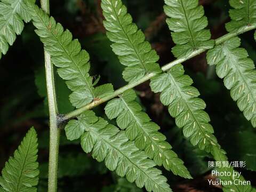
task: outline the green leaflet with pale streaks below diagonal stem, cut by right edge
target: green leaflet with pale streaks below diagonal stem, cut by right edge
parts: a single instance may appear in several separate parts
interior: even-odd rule
[[[209,65],[217,65],[217,75],[224,78],[230,95],[237,101],[248,121],[256,127],[256,70],[245,49],[239,48],[240,39],[233,37],[207,52]]]

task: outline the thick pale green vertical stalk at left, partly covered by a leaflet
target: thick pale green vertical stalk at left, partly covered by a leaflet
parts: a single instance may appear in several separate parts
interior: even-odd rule
[[[41,0],[42,9],[49,14],[49,0]],[[51,56],[44,51],[45,75],[47,98],[50,116],[50,147],[49,147],[49,170],[48,170],[48,191],[57,191],[58,154],[60,129],[58,128],[58,105],[55,93],[54,68],[51,63]]]

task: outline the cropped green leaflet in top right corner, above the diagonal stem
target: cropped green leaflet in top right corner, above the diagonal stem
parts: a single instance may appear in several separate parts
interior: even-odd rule
[[[234,9],[229,10],[231,21],[226,23],[227,31],[238,30],[241,27],[256,24],[256,2],[253,0],[230,0]]]

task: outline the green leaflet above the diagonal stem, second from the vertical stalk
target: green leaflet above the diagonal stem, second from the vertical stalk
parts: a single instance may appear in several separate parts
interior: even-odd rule
[[[156,63],[159,59],[156,51],[151,49],[145,35],[132,23],[132,17],[122,1],[102,0],[101,7],[106,19],[103,24],[108,30],[107,36],[115,42],[111,47],[122,65],[127,66],[123,71],[125,81],[136,81],[150,72],[161,73]]]

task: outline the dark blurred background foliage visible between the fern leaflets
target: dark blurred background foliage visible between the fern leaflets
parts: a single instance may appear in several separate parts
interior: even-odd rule
[[[51,15],[74,38],[78,38],[83,48],[90,53],[91,74],[100,74],[100,83],[113,83],[117,89],[125,85],[122,79],[123,66],[111,51],[105,29],[102,25],[100,0],[54,0],[51,2]],[[174,45],[165,23],[163,1],[123,0],[132,14],[134,22],[145,31],[146,38],[160,55],[159,63],[164,65],[174,60],[171,47]],[[229,21],[228,0],[200,0],[209,18],[212,38],[226,34],[225,23]],[[253,32],[241,35],[242,46],[256,61],[256,48]],[[246,161],[245,169],[238,169],[252,185],[256,186],[256,131],[238,110],[222,80],[215,75],[215,69],[207,66],[205,53],[183,63],[186,73],[194,80],[194,86],[201,92],[207,104],[206,111],[211,117],[215,135],[221,146],[227,150],[230,161]],[[29,23],[7,55],[0,60],[0,170],[31,126],[35,126],[39,137],[40,181],[39,192],[47,189],[47,159],[49,147],[49,127],[44,75],[43,45]],[[57,97],[60,113],[74,109],[70,105],[65,82],[56,75]],[[193,175],[193,180],[184,180],[164,171],[174,191],[221,191],[209,187],[211,177],[207,161],[211,156],[190,145],[175,126],[174,119],[153,94],[149,82],[135,87],[138,101],[166,135],[167,140],[185,161]],[[95,108],[98,115],[104,105]],[[114,123],[114,122],[113,122]],[[78,141],[70,142],[64,131],[61,134],[59,157],[58,191],[143,191],[126,179],[119,178],[97,163],[90,154],[83,153]]]

